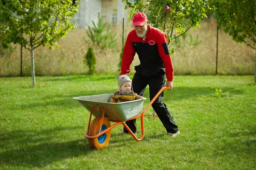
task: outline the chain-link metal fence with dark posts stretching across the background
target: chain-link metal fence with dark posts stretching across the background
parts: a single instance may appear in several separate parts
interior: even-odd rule
[[[201,28],[189,30],[186,36],[171,44],[171,48],[176,48],[172,55],[175,75],[254,74],[256,51],[253,48],[233,41],[232,37],[220,30],[217,39],[217,21],[214,18],[204,20],[200,25]],[[132,27],[131,23],[117,23],[111,29],[116,32],[118,44],[113,49],[101,50],[85,43],[85,40],[90,42],[85,28],[70,31],[59,40],[58,50],[52,51],[42,46],[36,48],[36,76],[87,74],[88,67],[83,60],[90,46],[96,55],[98,73],[119,74],[123,39],[126,39]],[[139,59],[135,56],[131,74],[134,73],[133,66],[137,64]],[[30,51],[21,50],[20,45],[12,45],[9,49],[0,48],[0,77],[21,75],[31,76]]]

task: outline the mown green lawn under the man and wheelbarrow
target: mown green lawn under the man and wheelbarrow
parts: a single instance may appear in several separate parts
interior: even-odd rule
[[[180,136],[166,136],[150,108],[142,141],[116,136],[119,125],[107,148],[91,149],[84,138],[90,113],[72,98],[113,93],[115,77],[36,77],[35,89],[31,77],[0,78],[0,169],[256,169],[253,76],[175,76],[163,102]],[[144,96],[145,107],[148,88]],[[140,137],[140,120],[137,127]]]

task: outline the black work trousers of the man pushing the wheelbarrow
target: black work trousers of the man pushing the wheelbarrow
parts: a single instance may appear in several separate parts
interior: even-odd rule
[[[149,96],[150,101],[154,96],[160,91],[161,88],[165,86],[166,75],[155,75],[151,77],[142,76],[139,73],[134,74],[132,79],[132,88],[135,93],[142,96],[146,86],[149,86]],[[163,91],[164,92],[164,91]],[[167,133],[176,133],[178,127],[172,119],[166,104],[162,103],[163,92],[158,96],[158,98],[153,102],[152,107],[157,113],[163,126],[166,128]],[[137,132],[136,119],[129,120],[125,122],[126,125],[131,129],[133,133]],[[128,133],[128,130],[124,127],[124,132]]]

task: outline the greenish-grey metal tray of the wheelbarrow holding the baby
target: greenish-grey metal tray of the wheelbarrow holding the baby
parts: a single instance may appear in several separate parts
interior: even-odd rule
[[[140,115],[143,108],[143,100],[133,100],[122,103],[110,103],[112,94],[99,94],[93,96],[74,97],[81,105],[89,112],[91,108],[103,108],[105,110],[105,117],[109,120],[126,121],[137,115]],[[93,116],[102,116],[103,110],[94,109]]]

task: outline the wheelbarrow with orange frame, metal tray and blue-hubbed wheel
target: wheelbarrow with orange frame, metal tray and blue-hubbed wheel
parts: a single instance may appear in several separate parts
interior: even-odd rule
[[[142,99],[122,103],[110,103],[113,94],[73,97],[73,99],[80,102],[84,108],[90,111],[87,132],[84,134],[84,137],[89,139],[90,147],[97,149],[107,147],[111,137],[111,129],[120,124],[124,125],[136,141],[141,141],[144,137],[143,116],[164,90],[169,90],[169,87],[161,88],[143,111],[144,101]],[[91,122],[92,115],[95,118]],[[137,118],[140,118],[141,122],[141,136],[139,139],[125,124],[125,121]],[[115,122],[115,124],[110,125],[110,122]]]

